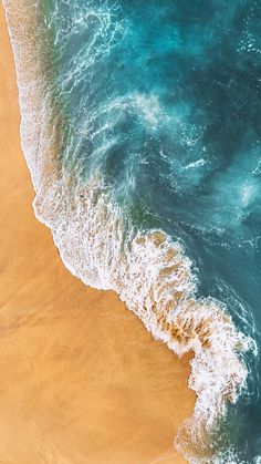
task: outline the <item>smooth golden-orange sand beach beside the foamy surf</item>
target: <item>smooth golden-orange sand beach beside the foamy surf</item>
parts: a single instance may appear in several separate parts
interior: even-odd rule
[[[188,358],[71,276],[33,216],[0,9],[0,463],[185,462],[173,443],[195,401]]]

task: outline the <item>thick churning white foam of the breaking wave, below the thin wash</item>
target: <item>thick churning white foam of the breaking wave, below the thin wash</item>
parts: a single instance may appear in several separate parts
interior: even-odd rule
[[[244,386],[247,368],[239,353],[249,340],[236,330],[221,303],[195,298],[190,261],[178,244],[159,230],[132,230],[126,236],[122,212],[101,177],[87,187],[77,185],[73,198],[72,192],[61,197],[61,188],[56,182],[48,196],[38,196],[34,209],[52,229],[65,266],[86,285],[116,291],[175,353],[195,352],[189,386],[197,402],[176,445],[197,462],[198,446],[201,453],[203,446],[210,452],[215,425]]]

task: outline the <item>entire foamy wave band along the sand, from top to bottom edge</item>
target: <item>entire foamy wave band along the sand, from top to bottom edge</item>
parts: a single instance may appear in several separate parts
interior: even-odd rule
[[[225,305],[197,298],[197,279],[181,244],[164,230],[139,230],[95,169],[80,181],[60,163],[63,121],[48,92],[44,25],[38,10],[4,0],[15,56],[21,138],[35,188],[36,217],[52,230],[64,265],[84,283],[114,290],[153,337],[178,355],[194,352],[189,386],[194,415],[176,446],[191,462],[221,462],[211,437],[246,386],[243,352],[251,340],[237,331]],[[15,10],[15,11],[14,11]],[[27,18],[19,21],[19,18]],[[35,30],[39,32],[35,33]]]

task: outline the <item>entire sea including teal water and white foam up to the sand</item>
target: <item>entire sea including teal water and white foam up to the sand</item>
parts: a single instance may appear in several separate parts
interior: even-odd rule
[[[261,2],[4,4],[36,217],[75,276],[195,352],[189,462],[261,463]]]

